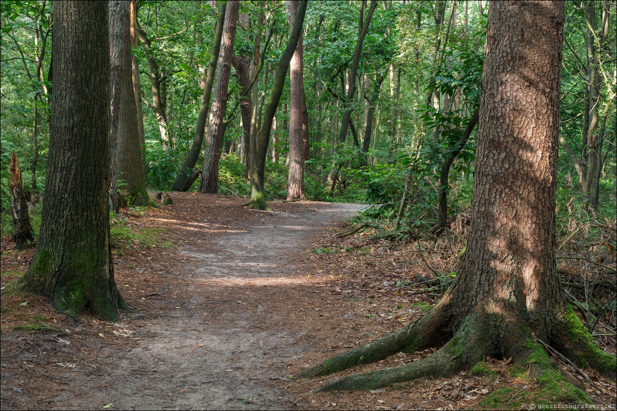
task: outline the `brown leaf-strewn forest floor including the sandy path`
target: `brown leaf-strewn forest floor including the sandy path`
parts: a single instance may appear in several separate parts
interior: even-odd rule
[[[494,372],[482,378],[311,393],[349,372],[295,380],[299,372],[423,315],[438,296],[405,281],[430,272],[412,262],[409,246],[335,239],[358,205],[271,203],[276,212],[267,213],[239,198],[172,198],[117,218],[127,236],[113,248],[115,278],[131,307],[118,322],[70,319],[15,288],[32,250],[17,253],[2,239],[2,410],[532,408],[527,395],[537,386],[511,378],[507,359],[489,361]],[[563,371],[598,409],[610,409],[615,381],[592,373],[594,387]],[[497,389],[501,404],[481,403]]]

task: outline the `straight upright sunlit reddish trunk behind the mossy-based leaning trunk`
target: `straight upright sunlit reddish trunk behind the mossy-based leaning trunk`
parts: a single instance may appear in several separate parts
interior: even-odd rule
[[[289,30],[294,26],[298,1],[286,2],[289,10]],[[298,38],[296,51],[289,63],[289,174],[287,200],[304,198],[304,160],[305,140],[309,124],[305,123],[304,112],[304,68],[302,62],[302,31]]]

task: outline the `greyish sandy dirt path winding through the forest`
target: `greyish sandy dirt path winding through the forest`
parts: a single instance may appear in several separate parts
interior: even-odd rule
[[[296,409],[277,385],[287,378],[289,364],[313,349],[302,336],[319,318],[313,294],[319,285],[302,264],[310,254],[305,251],[315,248],[311,238],[325,235],[334,222],[362,206],[274,203],[282,212],[265,213],[247,210],[245,200],[218,195],[176,193],[173,199],[174,205],[152,218],[176,236],[176,248],[168,257],[162,251],[146,260],[165,267],[149,280],[160,296],[142,293],[135,302],[127,300],[146,319],[127,312],[115,324],[135,330],[141,323],[131,336],[143,340],[119,350],[101,349],[101,372],[74,381],[84,389],[62,404],[72,409],[109,403],[114,409],[144,410]],[[130,277],[126,271],[156,270],[155,264],[130,259],[117,258],[117,263],[121,292]],[[307,307],[313,312],[303,325],[301,311]]]

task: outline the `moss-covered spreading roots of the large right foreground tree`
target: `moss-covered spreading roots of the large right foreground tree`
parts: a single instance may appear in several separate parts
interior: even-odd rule
[[[464,316],[452,336],[447,328],[453,325],[455,315],[448,300],[449,294],[446,294],[424,317],[412,324],[365,346],[325,360],[301,373],[299,378],[328,375],[355,365],[375,362],[399,351],[441,346],[431,356],[421,360],[400,367],[347,375],[326,383],[315,392],[378,389],[416,378],[449,377],[462,369],[472,368],[486,356],[505,356],[517,362],[516,369],[522,370],[526,376],[537,378],[543,386],[540,396],[559,397],[575,403],[589,401],[582,391],[561,376],[542,345],[532,339],[529,328],[516,316],[497,314],[490,309],[476,309]],[[573,352],[573,348],[579,350],[579,364],[592,365],[605,375],[614,376],[615,357],[600,350],[589,333],[589,338],[586,338],[586,328],[571,309],[565,321],[566,329],[571,331],[565,336],[568,344],[562,342],[562,346],[569,349],[569,352]]]

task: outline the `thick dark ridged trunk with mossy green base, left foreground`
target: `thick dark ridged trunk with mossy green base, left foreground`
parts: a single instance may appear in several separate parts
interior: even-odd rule
[[[62,312],[106,320],[126,307],[109,242],[107,1],[54,4],[54,89],[41,232],[25,290]],[[85,53],[84,51],[88,52]]]

